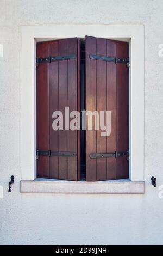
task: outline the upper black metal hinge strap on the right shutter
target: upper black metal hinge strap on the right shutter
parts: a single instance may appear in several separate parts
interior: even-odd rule
[[[123,64],[126,64],[128,68],[130,66],[129,58],[118,58],[118,57],[110,57],[110,56],[104,56],[104,55],[90,54],[90,59],[104,60],[106,62],[114,62],[115,64],[116,63],[123,63]]]

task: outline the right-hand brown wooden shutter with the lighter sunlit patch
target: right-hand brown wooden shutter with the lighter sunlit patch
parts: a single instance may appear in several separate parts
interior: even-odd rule
[[[90,54],[95,54],[94,58]],[[103,60],[97,60],[100,56]],[[106,56],[112,57],[106,60]],[[123,58],[114,62],[115,57]],[[86,131],[86,180],[128,178],[129,71],[127,42],[86,36],[86,111],[111,111],[111,135],[101,130]],[[109,61],[108,61],[109,60]],[[119,62],[120,61],[120,62]],[[106,117],[106,115],[105,115]],[[112,157],[91,158],[95,153],[114,153]],[[98,155],[99,156],[99,155]],[[104,155],[106,156],[106,155]]]

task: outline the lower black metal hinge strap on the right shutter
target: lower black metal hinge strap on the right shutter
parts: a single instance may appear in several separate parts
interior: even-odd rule
[[[104,158],[104,157],[122,157],[126,156],[127,160],[129,160],[129,151],[123,151],[123,152],[106,152],[106,153],[91,153],[90,158]]]

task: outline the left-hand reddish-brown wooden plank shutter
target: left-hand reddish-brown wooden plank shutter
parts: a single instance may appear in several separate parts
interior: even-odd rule
[[[70,107],[70,112],[79,111],[78,45],[77,38],[37,44],[37,57],[51,57],[51,62],[40,61],[37,67],[37,149],[51,152],[51,156],[39,155],[39,177],[79,179],[79,131],[52,129],[54,111],[64,114],[65,106]],[[65,59],[53,61],[52,57]],[[76,156],[61,156],[62,153]]]

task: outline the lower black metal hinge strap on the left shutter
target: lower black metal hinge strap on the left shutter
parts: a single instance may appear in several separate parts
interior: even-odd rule
[[[51,150],[36,150],[36,159],[39,159],[39,156],[66,156],[66,157],[76,157],[76,152],[58,152]]]

